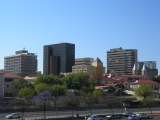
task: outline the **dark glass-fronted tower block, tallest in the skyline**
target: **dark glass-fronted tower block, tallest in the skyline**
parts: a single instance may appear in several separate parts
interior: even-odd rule
[[[72,72],[75,64],[75,44],[60,43],[43,48],[43,74],[59,75]]]

